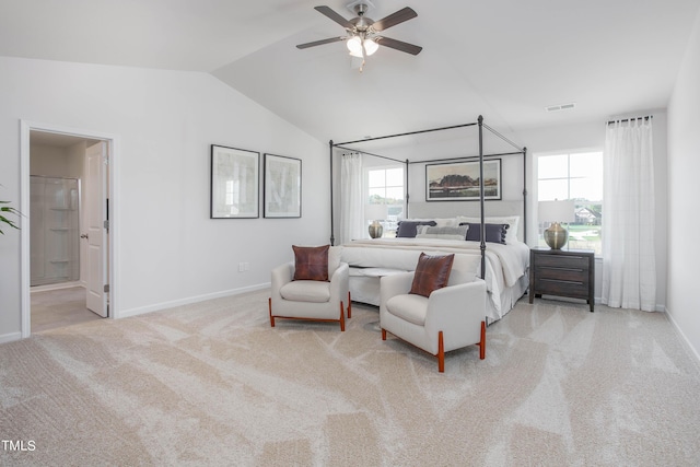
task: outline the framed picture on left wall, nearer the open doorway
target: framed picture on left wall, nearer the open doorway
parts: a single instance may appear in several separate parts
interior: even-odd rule
[[[211,219],[260,217],[260,153],[211,144]]]

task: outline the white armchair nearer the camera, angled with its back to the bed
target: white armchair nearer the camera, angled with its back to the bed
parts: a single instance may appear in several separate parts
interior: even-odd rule
[[[481,279],[448,284],[429,297],[410,294],[413,272],[385,276],[381,282],[382,340],[389,331],[438,357],[445,371],[445,352],[478,345],[486,358],[486,282]]]

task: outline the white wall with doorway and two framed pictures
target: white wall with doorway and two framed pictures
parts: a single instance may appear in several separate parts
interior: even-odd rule
[[[14,206],[20,119],[118,137],[117,315],[264,285],[293,243],[327,243],[326,144],[209,74],[0,57],[0,199]],[[302,219],[210,220],[212,143],[302,159]],[[20,266],[7,232],[0,341],[19,337]]]

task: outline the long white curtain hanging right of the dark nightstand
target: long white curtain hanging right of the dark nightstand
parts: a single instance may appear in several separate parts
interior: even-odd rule
[[[653,312],[656,265],[651,118],[607,126],[603,222],[603,303]]]

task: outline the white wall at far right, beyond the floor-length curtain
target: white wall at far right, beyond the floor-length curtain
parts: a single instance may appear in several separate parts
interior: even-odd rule
[[[668,300],[667,311],[700,358],[698,278],[700,248],[695,233],[700,173],[700,13],[668,105]]]

